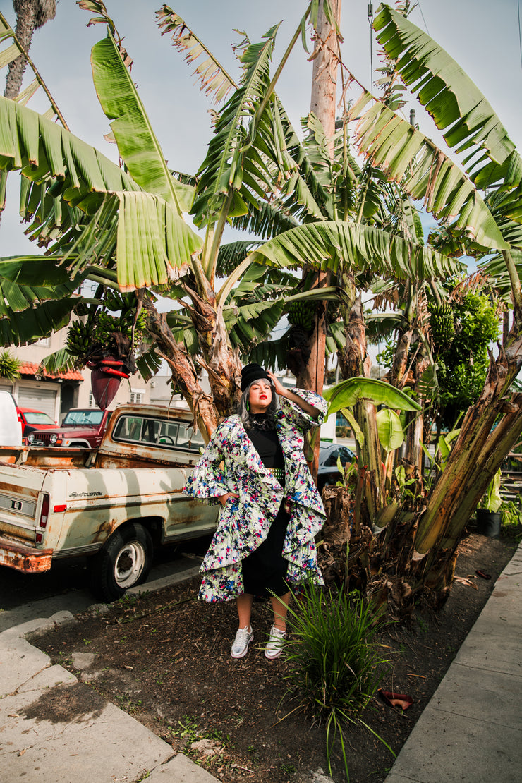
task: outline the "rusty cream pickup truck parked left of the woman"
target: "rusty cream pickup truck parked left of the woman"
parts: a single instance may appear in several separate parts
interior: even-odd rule
[[[182,494],[203,446],[191,418],[124,405],[97,449],[0,446],[0,565],[87,555],[93,592],[113,601],[146,581],[154,547],[213,532],[218,509]]]

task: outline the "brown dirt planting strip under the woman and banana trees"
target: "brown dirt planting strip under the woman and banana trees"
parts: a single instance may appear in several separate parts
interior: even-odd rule
[[[401,749],[456,652],[488,600],[516,544],[471,532],[460,544],[445,607],[418,614],[409,628],[380,632],[389,668],[382,687],[413,698],[404,713],[373,698],[363,718],[395,753]],[[482,570],[491,575],[484,579]],[[464,581],[460,581],[463,579]],[[177,751],[202,764],[223,783],[310,783],[327,773],[325,727],[292,712],[283,656],[268,662],[262,651],[270,626],[268,608],[254,604],[254,644],[245,659],[229,650],[236,631],[233,604],[196,601],[199,579],[135,599],[92,608],[77,622],[56,628],[33,644],[81,683],[63,698],[38,705],[42,716],[81,713],[87,687],[126,710]],[[91,654],[85,659],[79,653]],[[54,691],[53,691],[54,693]],[[393,756],[368,731],[347,728],[351,783],[380,783]],[[208,755],[207,755],[208,754]],[[337,752],[333,780],[344,781]]]

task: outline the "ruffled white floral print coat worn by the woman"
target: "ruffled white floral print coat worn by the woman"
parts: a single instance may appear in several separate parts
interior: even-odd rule
[[[183,491],[200,500],[229,498],[219,513],[218,529],[204,557],[201,571],[203,601],[230,601],[243,590],[241,561],[265,540],[283,497],[290,500],[290,521],[283,543],[288,561],[286,579],[296,585],[311,577],[322,584],[317,565],[315,534],[324,524],[325,511],[304,458],[304,432],[322,424],[327,404],[312,391],[293,389],[319,410],[314,420],[299,406],[282,397],[276,429],[285,460],[285,489],[261,458],[239,416],[229,416],[212,434]]]

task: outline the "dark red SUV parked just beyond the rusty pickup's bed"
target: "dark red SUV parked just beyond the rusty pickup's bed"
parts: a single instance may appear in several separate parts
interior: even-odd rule
[[[99,408],[71,408],[60,427],[34,430],[27,436],[27,444],[97,449],[111,413]]]

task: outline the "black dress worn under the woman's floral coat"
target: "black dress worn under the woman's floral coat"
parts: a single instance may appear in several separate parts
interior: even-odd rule
[[[252,418],[254,422],[257,421],[261,425],[265,420],[262,415],[254,415]],[[254,424],[254,427],[248,428],[247,433],[265,467],[275,468],[278,472],[284,471],[283,449],[279,443],[277,432],[270,429],[259,429]],[[284,478],[277,480],[284,488]],[[288,593],[288,584],[286,583],[288,564],[283,557],[283,543],[289,521],[290,514],[284,510],[283,500],[272,525],[270,525],[265,541],[242,562],[245,593],[262,597],[271,596],[272,593],[278,596]]]

